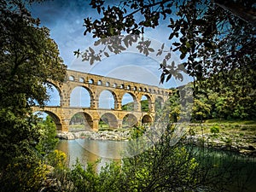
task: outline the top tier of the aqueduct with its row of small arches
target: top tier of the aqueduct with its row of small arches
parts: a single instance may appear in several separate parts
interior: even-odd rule
[[[108,87],[111,89],[140,91],[162,96],[169,96],[172,93],[172,90],[167,90],[154,85],[140,84],[127,80],[108,78],[101,75],[82,73],[70,69],[67,70],[66,82],[74,82],[78,84],[94,84],[97,86]]]

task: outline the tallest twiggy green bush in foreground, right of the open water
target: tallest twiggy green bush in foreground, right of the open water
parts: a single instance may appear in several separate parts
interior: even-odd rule
[[[183,144],[170,146],[170,139],[171,137],[160,139],[160,143],[142,154],[123,160],[125,191],[177,191],[196,188],[197,162]]]

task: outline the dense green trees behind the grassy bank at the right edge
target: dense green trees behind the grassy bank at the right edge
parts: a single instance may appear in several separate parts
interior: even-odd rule
[[[214,119],[255,119],[255,70],[247,70],[247,76],[240,69],[229,73],[218,73],[202,80],[201,90],[208,95]],[[224,79],[223,81],[221,79]],[[247,82],[245,86],[245,82]]]

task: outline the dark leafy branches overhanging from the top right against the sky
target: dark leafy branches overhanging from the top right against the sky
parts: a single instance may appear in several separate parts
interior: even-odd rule
[[[172,76],[182,79],[181,71],[196,79],[212,78],[219,72],[224,77],[232,76],[234,69],[252,75],[256,7],[251,0],[130,0],[116,5],[93,0],[90,5],[100,19],[85,18],[84,35],[92,33],[93,38],[100,38],[95,45],[101,44],[103,48],[97,51],[89,48],[83,53],[78,50],[75,54],[82,54],[91,64],[111,52],[119,54],[135,45],[144,55],[150,52],[166,55],[160,63],[161,82]],[[160,26],[163,20],[168,20],[166,27],[170,29],[172,46],[166,49],[163,44],[156,51],[143,35],[148,28]],[[183,64],[184,68],[170,63],[173,53],[180,56],[182,63],[177,64]]]

